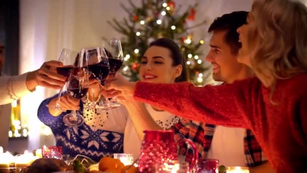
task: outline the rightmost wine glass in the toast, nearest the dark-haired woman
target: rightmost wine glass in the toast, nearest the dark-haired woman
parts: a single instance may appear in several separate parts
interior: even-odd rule
[[[105,53],[110,64],[110,74],[109,77],[114,77],[116,72],[121,68],[124,61],[124,55],[122,50],[121,41],[118,39],[111,39],[106,41],[104,44]],[[117,98],[112,98],[112,103],[106,100],[106,107],[118,107],[120,104],[116,103]]]

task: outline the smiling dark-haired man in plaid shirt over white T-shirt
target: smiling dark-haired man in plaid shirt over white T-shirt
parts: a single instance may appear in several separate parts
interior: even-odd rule
[[[210,52],[206,60],[213,66],[216,81],[232,83],[253,76],[237,61],[241,48],[237,28],[245,24],[248,12],[239,11],[218,17],[210,25]],[[219,159],[220,165],[248,166],[250,172],[272,172],[262,149],[249,129],[206,124],[204,152],[206,158]],[[273,171],[274,172],[274,171]]]

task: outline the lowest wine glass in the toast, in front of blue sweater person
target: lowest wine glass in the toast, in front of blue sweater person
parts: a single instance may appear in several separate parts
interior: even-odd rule
[[[89,73],[86,68],[74,67],[66,83],[67,93],[75,99],[85,97],[88,92],[88,78]],[[73,110],[63,117],[63,121],[66,125],[78,127],[84,123],[84,118]]]

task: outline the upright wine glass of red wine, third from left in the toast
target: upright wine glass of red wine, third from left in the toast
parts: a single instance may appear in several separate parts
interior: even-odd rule
[[[110,65],[108,59],[106,58],[104,48],[96,47],[82,50],[84,50],[84,52],[86,53],[86,60],[88,64],[87,69],[90,72],[90,80],[97,79],[98,81],[100,81],[101,85],[104,85],[104,82],[110,73]],[[91,95],[91,98],[93,100],[91,101],[89,99],[89,101],[92,102],[92,105],[89,106],[89,108],[92,107],[98,110],[109,110],[109,108],[107,108],[104,103],[101,102],[101,99],[98,99],[99,102],[98,104],[96,104],[94,94],[97,93],[99,97],[100,95],[98,94],[99,91],[94,90],[94,88],[91,88],[91,90],[89,91],[89,95]]]

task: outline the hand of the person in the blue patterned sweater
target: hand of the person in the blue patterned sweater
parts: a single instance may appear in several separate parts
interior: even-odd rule
[[[49,102],[49,105],[54,106],[57,104],[57,99],[54,98]],[[64,94],[60,99],[60,107],[64,110],[79,110],[80,109],[80,100],[71,97],[69,94]],[[62,111],[54,110],[49,108],[49,113],[53,116],[59,116]]]

